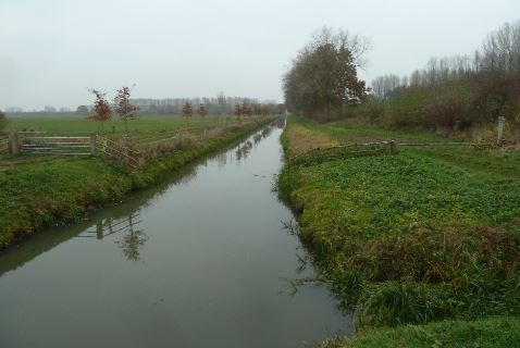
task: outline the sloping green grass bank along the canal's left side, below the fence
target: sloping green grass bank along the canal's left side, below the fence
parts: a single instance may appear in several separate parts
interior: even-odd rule
[[[50,128],[44,130],[83,129],[74,121],[67,120],[71,126],[62,128],[63,124],[57,124],[54,120],[49,123]],[[194,122],[200,120],[183,123],[183,120],[175,119],[166,126],[171,128]],[[73,222],[87,210],[120,201],[128,191],[151,185],[163,174],[248,135],[267,122],[228,126],[225,132],[205,140],[190,137],[188,146],[162,151],[163,154],[148,160],[134,172],[107,164],[99,158],[45,158],[0,171],[0,249],[45,226]],[[143,120],[141,123],[147,132],[152,132],[154,126],[156,129],[162,129],[165,125],[153,125],[151,120]],[[134,129],[143,130],[138,126],[137,123],[132,124],[132,127],[136,127]],[[12,160],[3,159],[8,162]]]

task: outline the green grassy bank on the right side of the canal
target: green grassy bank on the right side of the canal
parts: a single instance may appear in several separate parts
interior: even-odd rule
[[[280,194],[301,213],[299,233],[313,250],[320,277],[346,306],[360,309],[362,327],[519,315],[520,152],[439,146],[290,164],[310,144],[383,139],[446,141],[297,117],[283,135],[288,165]],[[434,325],[417,330],[443,324]],[[444,325],[456,341],[463,327],[494,324]],[[374,332],[367,341],[408,337],[413,330]]]

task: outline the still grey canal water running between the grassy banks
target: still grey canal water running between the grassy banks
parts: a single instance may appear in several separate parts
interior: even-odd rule
[[[305,347],[352,332],[272,192],[281,125],[0,256],[0,347]]]

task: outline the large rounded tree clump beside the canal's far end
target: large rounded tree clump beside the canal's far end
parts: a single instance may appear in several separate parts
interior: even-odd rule
[[[367,88],[357,70],[364,63],[368,47],[362,37],[323,28],[299,51],[284,76],[288,110],[327,120],[361,102]]]

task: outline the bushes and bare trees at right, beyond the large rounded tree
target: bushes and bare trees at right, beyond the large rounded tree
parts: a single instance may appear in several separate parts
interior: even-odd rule
[[[374,78],[371,98],[352,114],[397,127],[458,130],[500,116],[520,127],[520,21],[488,34],[472,54]]]

